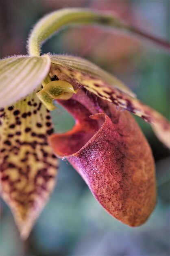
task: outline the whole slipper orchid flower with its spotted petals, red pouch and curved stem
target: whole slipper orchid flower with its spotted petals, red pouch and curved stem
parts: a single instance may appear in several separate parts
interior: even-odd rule
[[[116,77],[83,58],[40,56],[41,44],[68,25],[116,28],[169,49],[168,43],[113,13],[73,8],[39,20],[29,37],[27,56],[0,61],[1,195],[22,238],[28,237],[52,193],[57,157],[72,164],[112,216],[132,227],[142,225],[156,204],[155,164],[129,112],[149,122],[158,138],[170,146],[168,121]],[[64,134],[53,132],[54,101],[76,122]]]

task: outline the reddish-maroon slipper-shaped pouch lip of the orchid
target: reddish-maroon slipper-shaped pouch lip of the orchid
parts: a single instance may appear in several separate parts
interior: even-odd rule
[[[63,105],[68,104],[76,124],[64,134],[50,136],[54,153],[72,164],[107,212],[129,226],[142,225],[156,204],[155,165],[148,142],[128,112],[108,110],[111,118],[105,113],[89,115],[76,101],[82,109],[72,108],[73,101]],[[118,115],[117,124],[113,115]]]

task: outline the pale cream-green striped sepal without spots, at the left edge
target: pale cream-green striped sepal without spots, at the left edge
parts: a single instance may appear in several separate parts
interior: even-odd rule
[[[46,77],[50,68],[48,55],[13,56],[0,61],[0,107],[28,96]]]

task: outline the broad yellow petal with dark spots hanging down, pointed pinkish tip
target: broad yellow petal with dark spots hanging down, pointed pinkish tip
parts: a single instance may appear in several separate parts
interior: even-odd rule
[[[0,174],[2,198],[27,238],[55,184],[57,159],[48,145],[50,112],[32,94],[1,108]]]

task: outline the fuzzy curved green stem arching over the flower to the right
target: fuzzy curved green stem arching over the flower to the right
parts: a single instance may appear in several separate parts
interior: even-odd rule
[[[44,41],[60,29],[70,25],[98,25],[106,28],[119,29],[141,36],[142,38],[159,45],[159,47],[170,50],[170,44],[168,42],[150,36],[145,32],[132,27],[126,22],[120,20],[120,18],[115,16],[113,13],[100,13],[88,9],[68,8],[54,11],[39,20],[28,40],[29,55],[39,56],[40,47]]]

